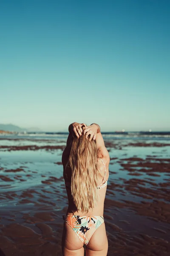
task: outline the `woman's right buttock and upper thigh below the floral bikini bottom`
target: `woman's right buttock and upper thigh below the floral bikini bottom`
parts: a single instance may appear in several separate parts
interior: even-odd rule
[[[86,247],[86,256],[107,256],[108,238],[106,236],[105,222],[100,225],[91,236]]]

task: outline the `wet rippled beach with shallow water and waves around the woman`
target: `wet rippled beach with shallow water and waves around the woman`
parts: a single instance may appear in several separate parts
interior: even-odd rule
[[[170,254],[170,136],[103,135],[108,256]],[[0,256],[62,256],[67,136],[0,137]]]

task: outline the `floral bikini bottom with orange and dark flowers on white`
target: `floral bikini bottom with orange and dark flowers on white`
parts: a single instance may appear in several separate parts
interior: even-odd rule
[[[79,239],[87,245],[96,229],[104,222],[103,216],[66,215],[65,222],[74,230]]]

